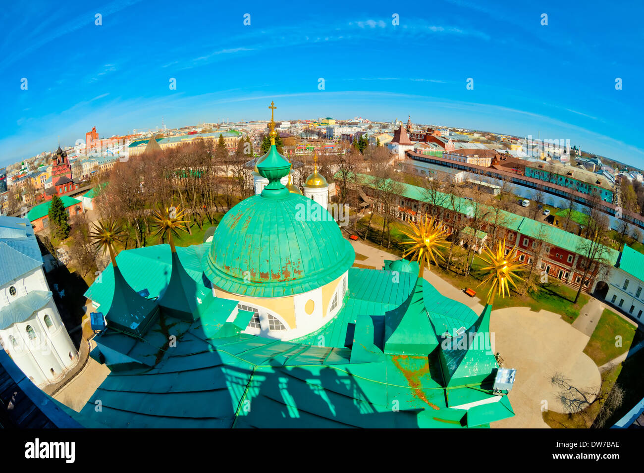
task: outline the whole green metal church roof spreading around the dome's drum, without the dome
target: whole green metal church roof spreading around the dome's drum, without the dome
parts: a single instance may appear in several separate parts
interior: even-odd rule
[[[197,260],[198,248],[191,250]],[[196,263],[188,249],[178,257],[189,273]],[[164,259],[169,252],[154,246],[121,252],[130,281],[142,278],[129,270],[138,275],[141,261],[155,261],[142,259],[146,253]],[[149,286],[159,284],[156,272],[171,278],[167,269],[164,261],[147,264],[155,281]],[[103,275],[92,288],[106,281]],[[194,321],[161,313],[138,337],[109,328],[95,337],[92,357],[112,371],[77,420],[86,427],[144,428],[487,427],[513,415],[507,402],[472,415],[477,405],[460,407],[498,403],[491,393],[495,358],[459,347],[448,352],[434,328],[435,319],[450,317],[471,332],[489,331],[489,306],[477,317],[412,272],[351,268],[343,310],[325,326],[323,346],[319,337],[312,343],[242,334],[252,314],[239,311],[227,322],[235,301],[214,301],[220,304]],[[167,344],[171,335],[174,346]]]

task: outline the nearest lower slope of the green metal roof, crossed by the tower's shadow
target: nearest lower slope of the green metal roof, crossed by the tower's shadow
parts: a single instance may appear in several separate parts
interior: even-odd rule
[[[468,409],[448,399],[477,402],[482,392],[442,387],[433,380],[440,366],[428,357],[352,363],[351,355],[250,335],[205,339],[194,322],[153,369],[113,371],[76,418],[86,427],[444,428],[513,415],[506,408],[469,422]]]

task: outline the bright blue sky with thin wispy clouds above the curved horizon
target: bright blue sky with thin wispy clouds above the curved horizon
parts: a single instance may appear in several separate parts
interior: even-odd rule
[[[411,114],[570,139],[644,167],[642,3],[525,3],[5,5],[0,165],[55,149],[59,135],[73,144],[93,125],[112,136],[161,127],[162,116],[168,127],[265,119],[275,100],[276,120]]]

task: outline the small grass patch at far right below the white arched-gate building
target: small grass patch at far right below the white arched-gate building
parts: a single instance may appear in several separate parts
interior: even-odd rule
[[[627,351],[634,335],[635,327],[632,324],[605,309],[583,353],[591,357],[597,366],[601,366]],[[621,337],[621,346],[616,346],[618,336]]]

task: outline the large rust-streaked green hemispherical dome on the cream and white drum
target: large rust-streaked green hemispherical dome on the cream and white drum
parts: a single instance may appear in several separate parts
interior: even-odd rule
[[[328,211],[287,190],[232,207],[214,232],[204,272],[228,292],[283,297],[334,281],[354,259]]]

